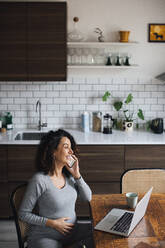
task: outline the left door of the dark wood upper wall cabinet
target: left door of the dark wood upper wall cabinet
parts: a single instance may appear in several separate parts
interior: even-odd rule
[[[26,4],[0,3],[0,81],[27,80]]]

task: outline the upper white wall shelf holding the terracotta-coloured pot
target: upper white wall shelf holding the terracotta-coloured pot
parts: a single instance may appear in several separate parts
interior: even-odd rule
[[[139,42],[67,42],[68,47],[107,47],[107,46],[132,46]]]

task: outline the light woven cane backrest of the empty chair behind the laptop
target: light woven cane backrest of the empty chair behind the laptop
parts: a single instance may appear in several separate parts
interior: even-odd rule
[[[164,169],[129,169],[120,179],[120,192],[146,193],[153,186],[153,193],[165,193]]]

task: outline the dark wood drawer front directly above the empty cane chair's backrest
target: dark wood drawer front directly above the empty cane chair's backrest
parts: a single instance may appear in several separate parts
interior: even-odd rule
[[[165,146],[126,146],[125,168],[165,168]]]

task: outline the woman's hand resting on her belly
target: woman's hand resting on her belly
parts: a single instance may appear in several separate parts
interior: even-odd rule
[[[68,218],[68,217],[63,217],[63,218],[59,218],[56,220],[48,219],[46,222],[46,226],[54,228],[57,231],[59,231],[60,233],[65,235],[65,234],[69,233],[74,226],[73,223],[66,222],[69,219],[70,218]]]

